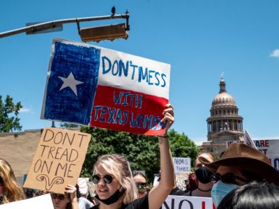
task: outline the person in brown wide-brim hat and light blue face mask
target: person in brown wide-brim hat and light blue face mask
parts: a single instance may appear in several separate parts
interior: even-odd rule
[[[199,157],[199,161],[215,173],[211,179],[214,183],[211,196],[216,208],[220,201],[239,185],[246,185],[252,180],[279,183],[279,172],[271,166],[269,158],[246,144],[230,145],[216,162],[209,162],[204,157]]]

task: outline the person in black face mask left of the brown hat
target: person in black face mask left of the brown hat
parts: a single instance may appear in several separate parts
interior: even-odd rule
[[[209,162],[214,162],[214,156],[211,153],[201,153],[197,155],[195,160],[195,176],[197,179],[197,189],[189,191],[187,194],[189,196],[211,196],[211,176],[213,173],[204,164],[199,161],[199,157],[204,157]]]

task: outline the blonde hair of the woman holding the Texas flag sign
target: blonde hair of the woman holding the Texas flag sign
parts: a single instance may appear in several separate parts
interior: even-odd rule
[[[132,171],[126,157],[117,154],[102,155],[94,165],[94,173],[96,173],[98,166],[102,166],[105,171],[112,174],[118,180],[124,190],[123,203],[125,205],[137,199],[137,187],[135,186]]]

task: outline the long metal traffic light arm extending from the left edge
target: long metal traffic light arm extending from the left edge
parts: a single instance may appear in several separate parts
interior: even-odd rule
[[[33,24],[30,26],[26,26],[20,29],[15,29],[12,31],[4,31],[0,33],[0,38],[4,38],[7,36],[13,36],[18,33],[24,32],[32,32],[32,31],[43,31],[47,29],[53,29],[57,26],[61,26],[67,23],[73,22],[89,22],[89,21],[96,21],[96,20],[111,20],[111,19],[119,19],[119,18],[129,18],[129,13],[120,14],[120,15],[106,15],[106,16],[98,16],[98,17],[81,17],[81,18],[71,18],[71,19],[64,19],[64,20],[54,20],[49,22],[42,22],[39,24]]]

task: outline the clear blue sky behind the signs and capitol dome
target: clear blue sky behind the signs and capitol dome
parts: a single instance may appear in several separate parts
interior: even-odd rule
[[[172,65],[169,100],[174,129],[206,141],[206,118],[224,72],[243,128],[252,139],[279,139],[279,1],[1,1],[0,31],[27,22],[130,13],[128,40],[92,45]],[[81,26],[112,24],[89,22]],[[0,39],[0,95],[21,101],[23,130],[50,126],[40,119],[52,38],[80,41],[76,24],[63,31]]]

